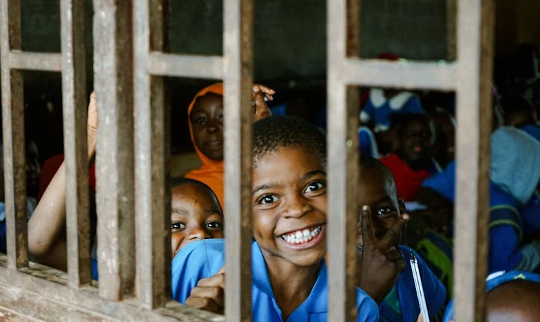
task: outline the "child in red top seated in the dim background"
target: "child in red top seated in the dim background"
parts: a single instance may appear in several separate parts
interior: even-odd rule
[[[381,159],[390,169],[397,186],[397,196],[415,200],[422,182],[437,172],[432,160],[435,131],[426,114],[407,114],[396,122],[399,148]]]

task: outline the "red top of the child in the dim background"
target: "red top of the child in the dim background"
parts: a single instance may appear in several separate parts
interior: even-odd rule
[[[390,169],[394,176],[397,197],[405,201],[415,200],[422,182],[431,175],[426,170],[414,171],[409,168],[395,153],[380,159],[380,161]]]

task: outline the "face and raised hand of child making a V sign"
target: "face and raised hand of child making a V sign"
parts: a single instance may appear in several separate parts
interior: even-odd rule
[[[392,178],[386,177],[379,169],[362,171],[358,193],[358,202],[364,204],[358,232],[363,246],[358,256],[358,286],[379,304],[405,268],[397,246],[409,218],[403,200],[397,200]]]

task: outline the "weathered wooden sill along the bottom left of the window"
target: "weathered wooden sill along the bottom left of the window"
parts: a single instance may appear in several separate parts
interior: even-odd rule
[[[218,314],[174,301],[157,310],[146,310],[136,299],[121,302],[100,299],[94,286],[83,286],[79,290],[68,288],[67,274],[61,270],[30,262],[29,268],[15,272],[6,268],[6,262],[6,255],[0,254],[0,312],[2,308],[9,308],[15,314],[40,321],[62,320],[66,316],[68,320],[79,321],[88,315],[105,317],[105,321],[225,321]]]

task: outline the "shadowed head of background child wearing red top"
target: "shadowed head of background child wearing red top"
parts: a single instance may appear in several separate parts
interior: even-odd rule
[[[419,170],[429,164],[432,148],[433,133],[428,120],[411,120],[402,125],[400,147],[397,151],[399,158],[413,170]]]

